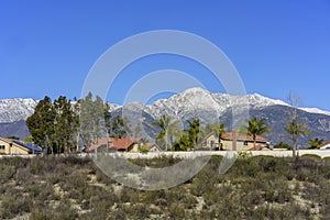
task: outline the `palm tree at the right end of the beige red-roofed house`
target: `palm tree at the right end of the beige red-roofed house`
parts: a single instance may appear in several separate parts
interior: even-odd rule
[[[243,127],[243,130],[246,131],[248,135],[252,136],[253,147],[255,147],[256,135],[270,133],[270,129],[265,124],[265,119],[257,120],[256,117],[254,117],[251,120],[248,120],[248,127]]]

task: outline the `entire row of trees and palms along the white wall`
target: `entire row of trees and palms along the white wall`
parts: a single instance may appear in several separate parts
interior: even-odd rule
[[[299,121],[297,108],[292,105],[292,118],[284,130],[293,142],[293,154],[296,155],[298,138],[310,134],[305,123]],[[52,101],[50,97],[41,100],[34,113],[26,120],[28,129],[35,144],[45,148],[47,153],[73,153],[81,146],[89,146],[90,140],[100,138],[124,138],[128,135],[141,135],[141,124],[135,127],[134,134],[128,119],[112,116],[110,106],[100,97],[89,92],[84,99],[70,101],[61,96]],[[218,143],[221,143],[226,133],[226,123],[208,123],[201,125],[198,119],[186,121],[186,127],[180,128],[179,121],[169,116],[162,116],[152,125],[157,128],[156,143],[164,151],[193,151],[197,148],[200,140],[210,132],[215,132]],[[183,125],[182,125],[183,127]],[[270,133],[265,119],[252,118],[246,120],[246,125],[238,129],[240,133],[249,134],[254,140],[256,136]],[[322,140],[309,140],[311,147],[316,147]],[[278,147],[288,145],[279,143]],[[219,144],[219,150],[223,150]]]

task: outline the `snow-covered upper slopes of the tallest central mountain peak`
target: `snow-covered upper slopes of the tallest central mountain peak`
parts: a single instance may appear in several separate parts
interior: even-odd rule
[[[161,99],[146,106],[145,111],[153,118],[162,114],[173,116],[177,119],[188,119],[191,114],[212,121],[222,116],[229,108],[250,107],[262,109],[268,106],[289,106],[282,100],[270,99],[258,94],[231,96],[216,94],[202,88],[190,88],[168,99]]]

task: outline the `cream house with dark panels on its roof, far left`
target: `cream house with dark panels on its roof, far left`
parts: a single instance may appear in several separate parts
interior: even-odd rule
[[[31,143],[25,144],[16,140],[0,138],[0,154],[18,155],[18,154],[38,154],[42,148]]]

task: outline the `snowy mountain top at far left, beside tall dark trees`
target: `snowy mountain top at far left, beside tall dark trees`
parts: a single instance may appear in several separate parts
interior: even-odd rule
[[[26,120],[34,112],[37,101],[33,99],[0,100],[0,123]]]

